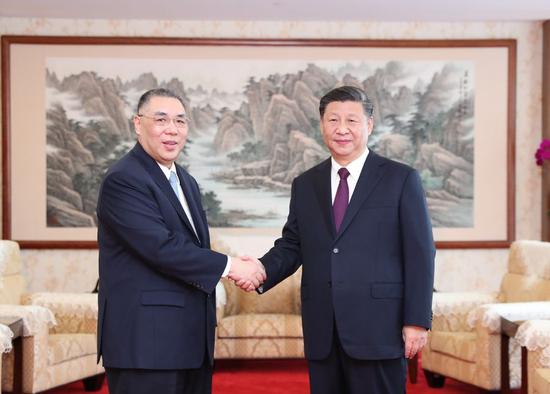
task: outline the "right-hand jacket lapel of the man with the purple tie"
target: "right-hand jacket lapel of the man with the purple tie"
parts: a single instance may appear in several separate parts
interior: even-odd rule
[[[343,234],[344,231],[346,231],[346,228],[352,222],[353,218],[359,211],[359,208],[361,208],[361,206],[369,198],[370,194],[382,178],[382,175],[384,174],[383,164],[384,162],[380,159],[380,156],[378,156],[373,151],[369,152],[367,160],[365,161],[363,169],[361,170],[361,175],[357,180],[357,185],[355,186],[355,190],[353,191],[353,195],[346,210],[346,214],[344,215],[344,220],[342,221],[342,225],[340,226],[340,231],[336,235],[336,239],[338,239],[340,235]]]

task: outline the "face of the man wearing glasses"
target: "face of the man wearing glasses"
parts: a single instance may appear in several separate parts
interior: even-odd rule
[[[143,115],[143,116],[138,116]],[[188,126],[177,128],[174,120],[185,118],[185,109],[178,99],[154,96],[134,116],[134,127],[138,141],[153,159],[166,167],[171,167],[187,140]],[[155,117],[168,117],[166,126],[155,125]]]

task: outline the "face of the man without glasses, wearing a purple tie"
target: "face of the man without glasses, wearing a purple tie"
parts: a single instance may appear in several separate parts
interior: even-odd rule
[[[363,105],[355,101],[329,103],[321,119],[323,141],[334,160],[342,166],[347,166],[365,151],[372,126],[372,117],[367,117]]]

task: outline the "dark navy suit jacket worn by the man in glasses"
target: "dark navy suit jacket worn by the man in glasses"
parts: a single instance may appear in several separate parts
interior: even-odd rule
[[[166,176],[138,143],[106,174],[97,206],[98,358],[106,367],[188,369],[212,361],[215,287],[197,182],[177,174],[198,238]]]

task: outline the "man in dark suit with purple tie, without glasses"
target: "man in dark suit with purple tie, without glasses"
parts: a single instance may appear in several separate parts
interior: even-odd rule
[[[420,177],[369,151],[373,104],[362,90],[334,89],[319,111],[332,157],[294,180],[259,290],[303,266],[312,393],[404,393],[405,357],[431,326],[435,248]]]

